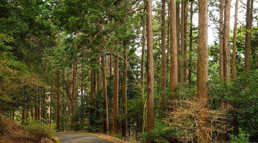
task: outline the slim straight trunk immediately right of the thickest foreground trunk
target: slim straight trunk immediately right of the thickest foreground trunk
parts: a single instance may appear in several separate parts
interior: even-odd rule
[[[223,11],[224,11],[224,0],[220,0],[220,29],[219,29],[219,46],[220,46],[220,78],[224,77],[224,58],[223,58]]]

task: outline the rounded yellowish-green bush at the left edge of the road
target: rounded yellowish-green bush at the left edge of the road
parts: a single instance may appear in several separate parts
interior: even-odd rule
[[[25,130],[29,133],[29,136],[33,139],[34,142],[47,142],[56,132],[55,125],[46,125],[42,124],[39,121],[30,119],[24,127]]]

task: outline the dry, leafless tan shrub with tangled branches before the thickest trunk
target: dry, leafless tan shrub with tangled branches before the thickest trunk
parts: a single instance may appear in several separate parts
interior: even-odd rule
[[[232,130],[226,109],[211,110],[207,102],[198,99],[172,101],[173,112],[169,113],[170,128],[177,130],[176,138],[182,142],[202,142],[201,133],[207,132],[211,142],[221,142],[219,135]],[[208,125],[198,120],[200,116],[208,119]],[[202,117],[203,118],[203,117]],[[207,123],[205,123],[207,124]],[[200,130],[197,126],[201,126]]]

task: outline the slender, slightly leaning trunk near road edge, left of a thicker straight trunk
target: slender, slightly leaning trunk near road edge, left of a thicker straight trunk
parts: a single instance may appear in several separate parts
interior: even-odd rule
[[[108,132],[108,97],[107,97],[107,85],[106,85],[106,65],[105,65],[105,57],[101,56],[101,64],[102,64],[102,92],[104,96],[104,133]]]

